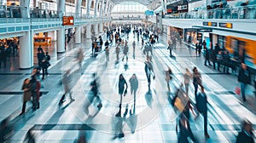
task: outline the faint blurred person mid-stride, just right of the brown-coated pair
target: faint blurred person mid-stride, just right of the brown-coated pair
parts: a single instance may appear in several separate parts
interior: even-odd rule
[[[64,94],[61,96],[61,100],[59,102],[59,106],[62,105],[62,103],[65,102],[65,96],[66,94],[69,94],[70,102],[73,102],[74,99],[72,98],[72,92],[71,92],[71,74],[70,70],[67,70],[62,76],[62,83],[64,85]]]

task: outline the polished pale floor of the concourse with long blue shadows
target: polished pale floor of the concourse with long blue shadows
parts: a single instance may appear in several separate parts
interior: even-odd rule
[[[103,36],[106,39],[105,36]],[[135,55],[132,54],[131,43],[136,40]],[[173,50],[173,57],[166,49],[166,39],[161,37],[153,49],[153,66],[155,80],[150,89],[144,72],[146,60],[141,42],[130,36],[128,39],[129,59],[116,61],[115,45],[110,46],[110,61],[106,62],[105,52],[96,57],[91,56],[90,40],[83,39],[81,44],[69,43],[66,54],[55,54],[55,44],[48,50],[52,55],[49,76],[44,79],[43,96],[40,109],[33,112],[28,104],[26,114],[21,111],[21,85],[26,77],[30,77],[32,70],[19,70],[19,58],[11,58],[8,68],[0,69],[0,120],[10,117],[14,124],[15,134],[11,142],[23,142],[26,133],[32,129],[37,142],[73,142],[81,134],[85,134],[89,142],[177,142],[177,115],[168,103],[165,70],[171,67],[174,74],[171,92],[174,93],[180,83],[183,83],[185,68],[190,71],[197,66],[202,75],[203,84],[208,96],[208,133],[210,139],[205,139],[202,117],[190,121],[191,129],[200,142],[235,142],[236,134],[241,129],[241,120],[249,119],[256,124],[256,105],[253,87],[247,89],[247,102],[241,101],[241,96],[234,93],[238,85],[236,75],[224,74],[213,70],[211,66],[204,66],[204,58],[195,55],[194,49],[186,45],[177,45]],[[79,48],[84,51],[82,68],[79,69],[75,59]],[[36,57],[34,63],[37,64]],[[66,102],[60,107],[58,102],[63,94],[61,75],[67,69],[71,70],[73,98],[70,102],[67,95]],[[90,82],[92,73],[96,73],[100,83],[100,97],[102,108],[99,110],[99,100],[90,104]],[[119,107],[118,78],[123,73],[128,85],[133,73],[137,75],[139,89],[136,104],[130,89]],[[189,86],[189,94],[194,100],[194,88]],[[88,107],[89,106],[89,107]],[[86,114],[85,108],[89,109]],[[121,117],[116,114],[121,110]],[[127,115],[125,116],[125,111]],[[131,112],[131,113],[130,113]],[[120,130],[125,137],[119,138]],[[134,132],[135,131],[135,132]]]

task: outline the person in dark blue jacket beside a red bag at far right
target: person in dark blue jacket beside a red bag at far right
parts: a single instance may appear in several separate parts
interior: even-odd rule
[[[251,83],[251,73],[247,70],[247,66],[241,63],[241,69],[238,73],[238,82],[241,84],[241,97],[243,101],[246,101],[246,89],[247,84]]]

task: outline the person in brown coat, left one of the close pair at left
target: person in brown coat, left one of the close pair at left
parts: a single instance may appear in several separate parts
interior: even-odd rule
[[[31,100],[32,96],[32,86],[30,83],[30,79],[26,78],[22,85],[23,90],[23,106],[20,115],[24,114],[26,111],[26,102]]]

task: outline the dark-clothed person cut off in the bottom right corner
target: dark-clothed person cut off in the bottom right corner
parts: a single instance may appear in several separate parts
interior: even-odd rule
[[[244,120],[241,125],[242,129],[236,137],[236,143],[254,143],[253,124],[248,120]]]

